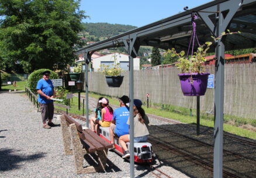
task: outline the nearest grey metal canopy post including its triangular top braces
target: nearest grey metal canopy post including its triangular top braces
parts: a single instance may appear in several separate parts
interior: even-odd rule
[[[242,1],[243,2],[243,1]],[[229,25],[234,14],[242,5],[240,0],[231,0],[204,9],[205,11],[217,11],[217,24],[213,24],[209,15],[212,13],[198,12],[200,18],[206,23],[209,29],[219,37]],[[227,12],[224,18],[223,12]],[[215,62],[215,128],[214,128],[214,151],[213,151],[213,177],[223,177],[223,105],[224,105],[224,51],[222,39],[216,41],[216,62]]]

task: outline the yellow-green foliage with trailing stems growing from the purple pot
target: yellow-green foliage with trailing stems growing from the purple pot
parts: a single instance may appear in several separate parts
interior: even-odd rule
[[[226,32],[223,32],[219,37],[213,37],[214,41],[222,39],[223,36],[227,34],[234,34],[234,33],[241,33],[241,32],[230,32],[230,30],[227,30]],[[181,71],[181,74],[193,74],[193,73],[203,73],[205,72],[206,68],[203,66],[203,64],[206,62],[205,56],[207,51],[209,50],[210,46],[213,43],[210,41],[207,41],[202,46],[198,47],[197,51],[191,56],[191,57],[185,57],[185,52],[181,51],[178,53],[175,48],[172,48],[171,50],[168,49],[167,54],[171,54],[171,57],[178,57],[178,63],[175,64],[177,68]]]

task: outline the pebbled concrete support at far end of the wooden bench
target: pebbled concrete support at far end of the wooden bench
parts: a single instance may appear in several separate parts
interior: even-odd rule
[[[63,145],[64,145],[64,152],[65,155],[72,155],[71,148],[71,135],[70,135],[70,128],[67,126],[67,121],[65,120],[65,116],[61,115],[61,130],[62,130],[62,137],[63,137]]]

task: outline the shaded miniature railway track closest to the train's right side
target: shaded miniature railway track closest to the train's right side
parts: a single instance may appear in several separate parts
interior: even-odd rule
[[[148,138],[148,140],[151,142],[151,144],[160,146],[162,149],[165,149],[169,152],[174,153],[175,155],[179,155],[182,156],[184,159],[189,160],[189,162],[195,163],[198,166],[201,166],[207,170],[210,170],[211,172],[213,172],[213,165],[210,163],[205,162],[202,159],[196,158],[195,156],[189,155],[188,153],[185,153],[177,148],[174,148],[172,146],[166,145],[160,141],[157,141],[155,139],[152,138]],[[223,177],[234,177],[234,178],[240,178],[239,176],[237,176],[236,174],[227,172],[226,170],[223,170]]]

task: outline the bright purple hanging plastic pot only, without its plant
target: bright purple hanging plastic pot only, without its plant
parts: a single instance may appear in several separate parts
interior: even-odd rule
[[[181,90],[184,96],[203,96],[205,95],[208,76],[210,73],[192,73],[192,74],[178,74],[181,82]],[[193,82],[191,82],[191,76]]]

